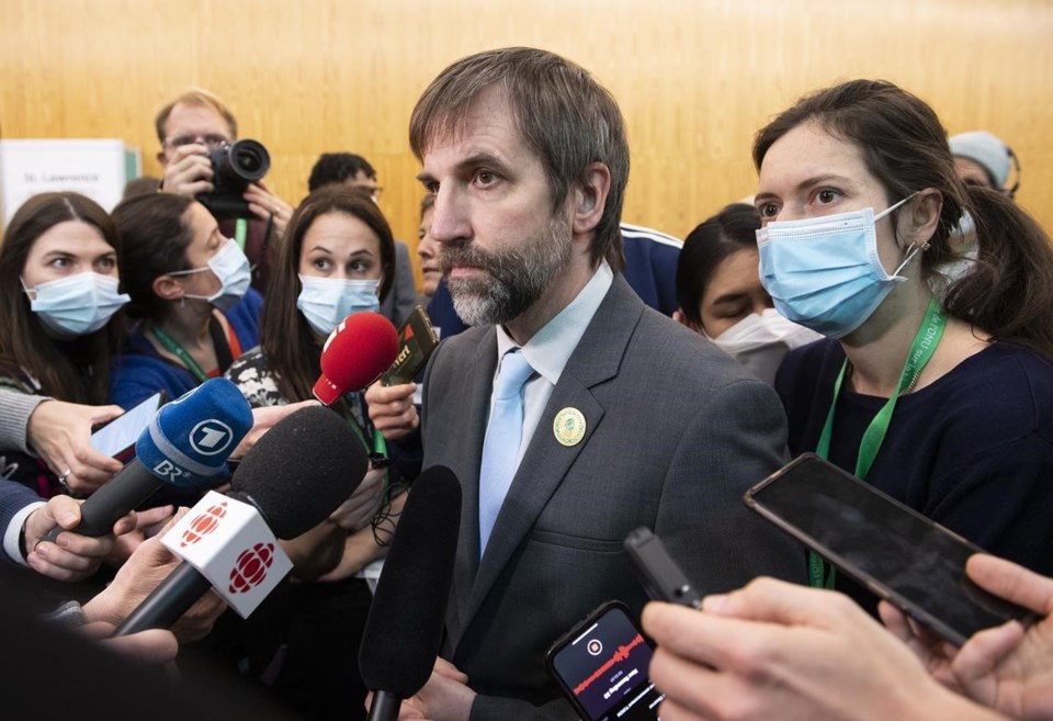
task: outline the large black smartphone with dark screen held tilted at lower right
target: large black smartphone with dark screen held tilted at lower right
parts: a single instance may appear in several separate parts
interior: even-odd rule
[[[818,455],[806,453],[746,492],[751,509],[955,645],[1026,608],[965,576],[982,549]]]

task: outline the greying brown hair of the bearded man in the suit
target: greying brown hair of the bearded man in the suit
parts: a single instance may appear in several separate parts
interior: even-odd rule
[[[591,263],[602,259],[618,271],[625,264],[619,221],[629,180],[629,143],[614,98],[588,71],[546,50],[510,47],[457,60],[417,101],[409,121],[409,145],[418,160],[428,146],[460,133],[473,103],[490,88],[508,102],[516,126],[548,176],[554,209],[593,162],[611,172],[611,189],[596,226]]]

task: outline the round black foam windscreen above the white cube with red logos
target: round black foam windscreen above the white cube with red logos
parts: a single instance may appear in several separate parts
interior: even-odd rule
[[[329,408],[302,408],[246,453],[229,495],[256,506],[278,538],[296,538],[354,493],[369,462],[347,420]]]

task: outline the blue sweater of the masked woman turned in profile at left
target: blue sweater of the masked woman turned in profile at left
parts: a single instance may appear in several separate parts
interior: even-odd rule
[[[242,350],[260,342],[262,308],[262,296],[250,288],[241,302],[224,314]],[[141,325],[128,336],[124,353],[117,356],[110,368],[110,403],[125,409],[135,407],[158,391],[167,391],[169,399],[176,399],[199,385],[190,371],[158,354],[144,335]]]

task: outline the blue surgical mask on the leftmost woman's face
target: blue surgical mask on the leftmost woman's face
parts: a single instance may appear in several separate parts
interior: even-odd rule
[[[64,336],[87,336],[106,325],[113,314],[131,301],[117,293],[117,279],[95,272],[22,288],[30,295],[30,307],[45,326]]]

